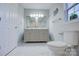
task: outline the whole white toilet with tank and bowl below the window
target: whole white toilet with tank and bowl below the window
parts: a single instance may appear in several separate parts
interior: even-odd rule
[[[56,56],[70,55],[72,49],[78,46],[78,31],[63,32],[63,41],[50,41],[47,43],[49,50]]]

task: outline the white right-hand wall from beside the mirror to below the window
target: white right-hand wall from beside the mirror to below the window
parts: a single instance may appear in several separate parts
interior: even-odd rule
[[[56,16],[53,16],[53,11],[59,8],[59,12]],[[64,20],[64,4],[54,4],[52,8],[50,9],[50,18],[49,18],[49,32],[54,37],[55,40],[63,40],[63,37],[61,37],[61,33],[64,31],[79,31],[79,22],[65,22]],[[58,18],[61,18],[61,20],[58,20]],[[54,22],[52,22],[54,21]],[[61,35],[59,35],[59,33]],[[52,39],[53,40],[53,39]]]

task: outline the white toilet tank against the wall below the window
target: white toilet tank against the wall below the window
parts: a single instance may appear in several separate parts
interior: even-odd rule
[[[71,45],[78,45],[79,31],[65,31],[64,41]]]

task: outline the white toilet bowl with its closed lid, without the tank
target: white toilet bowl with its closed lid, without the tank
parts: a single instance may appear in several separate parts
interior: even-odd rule
[[[67,44],[63,41],[51,41],[47,43],[48,48],[55,54],[55,55],[69,55],[71,45]]]

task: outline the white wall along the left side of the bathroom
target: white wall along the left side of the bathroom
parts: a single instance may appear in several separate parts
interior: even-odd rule
[[[6,55],[23,33],[23,9],[18,4],[0,4],[0,17],[0,55]]]

